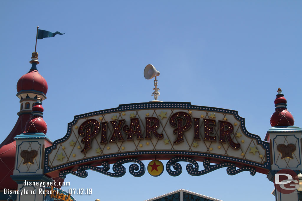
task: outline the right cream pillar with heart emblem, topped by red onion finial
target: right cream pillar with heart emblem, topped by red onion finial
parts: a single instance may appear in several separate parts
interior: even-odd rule
[[[287,101],[281,89],[278,88],[277,92],[271,128],[265,136],[271,149],[271,171],[267,177],[275,184],[277,201],[298,200],[295,184],[298,183],[297,174],[302,169],[302,129],[294,126],[294,117],[287,110]]]

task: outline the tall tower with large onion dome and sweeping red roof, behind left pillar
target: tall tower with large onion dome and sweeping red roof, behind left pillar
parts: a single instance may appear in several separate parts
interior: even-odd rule
[[[17,189],[17,183],[11,179],[11,175],[14,170],[14,162],[16,155],[16,141],[14,137],[23,133],[25,130],[25,124],[31,117],[33,103],[36,102],[37,96],[46,99],[47,82],[37,71],[38,53],[32,53],[31,69],[25,75],[23,75],[17,83],[17,96],[20,98],[20,111],[17,113],[19,118],[5,138],[0,144],[0,194],[1,191],[6,188],[10,190]]]

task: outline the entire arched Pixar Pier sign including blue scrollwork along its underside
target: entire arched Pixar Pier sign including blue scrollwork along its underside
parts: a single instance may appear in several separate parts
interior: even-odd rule
[[[123,164],[132,162],[129,172],[139,177],[146,171],[141,160],[153,159],[169,160],[164,167],[172,176],[182,172],[179,161],[189,162],[186,170],[194,176],[222,167],[230,175],[271,170],[269,143],[249,133],[237,111],[146,102],[75,116],[66,135],[45,149],[44,174],[86,177],[94,170],[121,177]]]

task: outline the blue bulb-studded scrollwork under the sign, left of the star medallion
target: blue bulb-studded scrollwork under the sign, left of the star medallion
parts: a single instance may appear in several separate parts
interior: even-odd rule
[[[145,174],[146,168],[145,165],[138,159],[122,159],[114,163],[112,166],[113,172],[109,172],[110,164],[108,162],[102,162],[101,166],[103,167],[95,167],[90,165],[80,166],[77,171],[72,170],[63,170],[59,173],[59,177],[65,178],[67,174],[73,174],[81,178],[85,178],[88,176],[88,172],[86,170],[93,170],[110,177],[122,177],[126,173],[126,168],[123,166],[125,163],[134,162],[129,166],[129,172],[134,177],[141,177]]]

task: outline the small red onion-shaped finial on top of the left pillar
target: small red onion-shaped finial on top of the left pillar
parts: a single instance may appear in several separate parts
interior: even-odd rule
[[[47,133],[47,124],[43,119],[43,111],[41,98],[38,96],[37,102],[32,108],[31,118],[25,125],[26,133]]]

